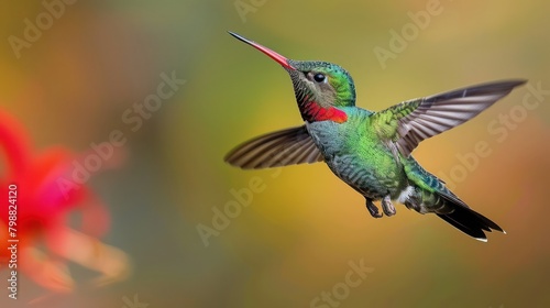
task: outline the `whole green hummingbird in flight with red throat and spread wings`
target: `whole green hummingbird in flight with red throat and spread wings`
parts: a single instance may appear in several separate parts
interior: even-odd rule
[[[226,155],[227,163],[260,169],[324,162],[365,198],[374,218],[394,216],[396,201],[422,215],[435,213],[483,242],[487,241],[485,231],[506,233],[422,168],[411,152],[422,140],[466,122],[527,80],[481,84],[370,111],[355,106],[353,79],[339,65],[289,59],[237,33],[229,34],[290,75],[304,124],[246,141]]]

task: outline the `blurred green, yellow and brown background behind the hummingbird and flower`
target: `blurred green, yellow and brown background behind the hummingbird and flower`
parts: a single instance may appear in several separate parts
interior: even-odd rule
[[[518,88],[414,153],[507,231],[488,243],[403,206],[374,220],[323,164],[245,172],[223,163],[238,143],[300,123],[285,72],[228,30],[290,58],[340,64],[354,77],[358,105],[371,110],[503,78],[550,89],[550,7],[540,0],[441,0],[440,13],[383,67],[374,48],[392,51],[391,31],[400,33],[409,13],[437,3],[76,1],[18,57],[8,37],[24,37],[25,19],[46,9],[3,1],[1,108],[38,148],[87,153],[113,130],[128,138],[123,164],[88,185],[111,216],[101,240],[125,252],[133,270],[91,288],[86,280],[95,273],[69,264],[81,283],[72,293],[50,295],[21,277],[20,298],[2,287],[0,306],[26,307],[48,295],[30,307],[131,307],[124,298],[135,296],[150,308],[548,307],[548,92],[527,110],[528,87]],[[162,74],[186,82],[133,131],[123,114],[156,92]],[[466,169],[460,157],[479,142],[491,154]],[[211,227],[212,208],[223,210],[235,200],[231,189],[251,180],[265,189],[205,246],[199,223]],[[310,306],[361,260],[373,271],[358,287],[336,304]]]

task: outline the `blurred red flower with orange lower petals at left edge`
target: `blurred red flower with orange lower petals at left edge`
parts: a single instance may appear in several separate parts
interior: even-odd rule
[[[16,268],[12,265],[8,271],[16,270],[18,275],[24,274],[54,292],[74,288],[66,266],[68,261],[99,272],[95,285],[124,278],[129,272],[128,256],[98,240],[109,228],[107,209],[85,183],[70,179],[72,163],[81,157],[61,146],[35,152],[24,128],[2,111],[0,146],[4,154],[0,176],[0,243],[10,246],[12,242],[8,240],[19,240]],[[9,232],[10,185],[11,190],[16,186],[13,233]],[[14,263],[13,257],[10,250],[0,249],[0,270]]]

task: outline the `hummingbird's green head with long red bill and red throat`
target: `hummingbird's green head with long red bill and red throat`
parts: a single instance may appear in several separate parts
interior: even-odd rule
[[[346,114],[340,108],[355,106],[355,86],[345,69],[328,62],[288,59],[239,34],[229,34],[266,54],[288,72],[305,121],[345,122]]]

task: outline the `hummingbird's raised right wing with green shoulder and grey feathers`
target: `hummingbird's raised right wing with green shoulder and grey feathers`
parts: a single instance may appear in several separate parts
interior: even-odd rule
[[[474,118],[525,82],[494,81],[404,101],[374,113],[372,124],[382,140],[407,157],[422,140]]]

